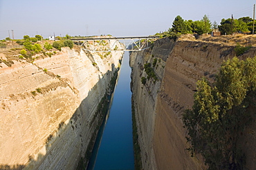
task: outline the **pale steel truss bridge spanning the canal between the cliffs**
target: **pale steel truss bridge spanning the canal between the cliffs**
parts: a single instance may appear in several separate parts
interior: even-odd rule
[[[71,39],[92,52],[140,51],[152,45],[159,36],[90,37]],[[122,43],[122,45],[120,45]]]

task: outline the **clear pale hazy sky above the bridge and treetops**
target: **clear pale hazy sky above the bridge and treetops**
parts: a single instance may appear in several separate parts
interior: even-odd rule
[[[147,36],[184,20],[253,18],[256,0],[0,0],[0,39],[24,35]],[[12,31],[13,30],[13,31]]]

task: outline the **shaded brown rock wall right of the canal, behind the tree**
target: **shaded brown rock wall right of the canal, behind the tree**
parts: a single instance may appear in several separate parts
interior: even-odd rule
[[[185,150],[188,143],[181,116],[193,105],[196,81],[203,76],[214,81],[223,60],[235,56],[234,47],[210,40],[167,38],[156,41],[152,50],[131,53],[131,90],[144,169],[206,169],[201,156],[191,158]],[[256,48],[251,47],[239,58],[255,54]],[[154,67],[158,81],[149,78],[143,85],[141,78],[147,77],[143,66],[155,59],[159,61]],[[251,139],[255,139],[255,120],[241,141],[248,169],[255,167],[255,140]]]

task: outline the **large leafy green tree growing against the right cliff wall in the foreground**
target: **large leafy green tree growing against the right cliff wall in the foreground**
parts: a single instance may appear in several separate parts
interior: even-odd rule
[[[194,153],[201,153],[209,169],[243,169],[238,140],[255,116],[256,56],[223,62],[214,85],[197,82],[192,109],[183,114]]]

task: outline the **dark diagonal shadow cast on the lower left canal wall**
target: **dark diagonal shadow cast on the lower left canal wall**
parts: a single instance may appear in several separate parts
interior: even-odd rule
[[[64,123],[64,121],[68,119],[64,118],[65,120],[63,120],[58,127],[55,127],[55,131],[46,138],[44,146],[46,154],[38,153],[36,158],[32,155],[28,156],[28,162],[26,164],[0,164],[0,169],[86,169],[98,130],[109,108],[113,89],[118,77],[118,70],[119,68],[116,68],[112,64],[112,71],[108,71],[104,74],[102,78],[99,79],[98,83],[93,86],[88,96],[82,100],[80,106],[75,110],[75,113],[71,116],[68,123]],[[111,80],[107,79],[107,75],[109,74],[112,75]],[[109,83],[103,83],[102,81],[108,81]],[[66,82],[62,81],[62,87],[69,87],[68,83],[66,83],[66,86],[63,83],[65,84]],[[104,96],[98,96],[98,105],[97,103],[93,103],[94,105],[91,109],[93,110],[93,114],[90,115],[88,113],[89,98],[90,96],[95,96],[98,89],[104,88],[104,84],[109,85],[107,91]],[[55,88],[56,87],[53,87],[52,90]],[[73,138],[73,140],[67,140],[68,138]],[[56,157],[58,160],[56,160]]]

